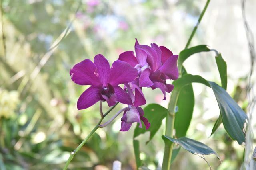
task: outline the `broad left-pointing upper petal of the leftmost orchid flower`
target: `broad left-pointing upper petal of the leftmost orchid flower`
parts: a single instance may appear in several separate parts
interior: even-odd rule
[[[70,69],[70,76],[73,82],[79,85],[99,86],[100,79],[95,74],[96,66],[89,59],[83,60]]]

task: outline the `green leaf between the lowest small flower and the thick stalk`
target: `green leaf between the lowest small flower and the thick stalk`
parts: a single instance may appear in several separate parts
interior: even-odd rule
[[[150,131],[150,137],[147,143],[154,137],[160,126],[162,125],[162,120],[168,114],[168,110],[159,104],[149,104],[144,108],[144,117],[148,119],[151,123],[150,128],[146,130],[145,125],[142,123],[142,128],[138,126],[134,130],[134,138],[139,136],[140,134],[145,133],[146,131]]]

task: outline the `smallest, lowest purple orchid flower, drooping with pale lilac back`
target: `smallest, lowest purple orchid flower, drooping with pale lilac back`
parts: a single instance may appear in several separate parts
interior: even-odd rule
[[[146,104],[146,99],[142,93],[141,88],[136,84],[136,81],[134,84],[131,84],[133,90],[128,84],[125,84],[125,86],[133,104],[129,105],[129,110],[124,111],[124,115],[121,118],[122,123],[120,131],[128,131],[132,126],[132,123],[135,122],[139,123],[139,127],[142,128],[141,121],[146,126],[146,129],[148,129],[150,127],[150,123],[146,117],[143,117],[144,111],[141,107],[139,107]],[[135,91],[135,96],[132,91]]]

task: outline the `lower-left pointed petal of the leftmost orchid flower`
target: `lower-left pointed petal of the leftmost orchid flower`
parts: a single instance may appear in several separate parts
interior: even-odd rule
[[[88,107],[94,105],[100,100],[100,89],[96,87],[89,87],[85,90],[77,101],[77,109],[87,109]]]

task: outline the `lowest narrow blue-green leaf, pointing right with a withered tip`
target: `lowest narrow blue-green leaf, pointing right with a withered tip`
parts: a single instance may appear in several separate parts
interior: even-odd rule
[[[201,142],[195,141],[193,139],[189,139],[187,137],[181,137],[179,139],[174,139],[168,136],[162,136],[165,142],[173,142],[180,145],[183,149],[187,150],[188,152],[195,154],[195,155],[209,155],[215,154],[217,157],[218,155],[212,148],[204,145]]]

